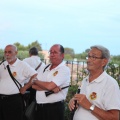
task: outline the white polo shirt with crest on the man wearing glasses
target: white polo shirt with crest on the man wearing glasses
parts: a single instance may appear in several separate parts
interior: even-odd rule
[[[120,90],[115,79],[105,71],[89,83],[88,77],[82,81],[81,94],[95,106],[103,110],[120,110]],[[89,110],[79,106],[73,120],[98,120]]]

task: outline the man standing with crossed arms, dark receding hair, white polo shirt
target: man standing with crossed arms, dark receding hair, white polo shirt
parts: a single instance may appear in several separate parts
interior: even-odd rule
[[[70,69],[63,62],[64,48],[55,44],[50,48],[50,64],[38,73],[32,87],[37,90],[35,120],[64,120],[64,100],[70,84]],[[45,92],[54,91],[46,96]]]

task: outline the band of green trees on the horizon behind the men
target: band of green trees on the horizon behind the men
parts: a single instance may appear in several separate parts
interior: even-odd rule
[[[42,51],[42,47],[41,44],[36,40],[30,44],[28,44],[27,46],[24,46],[22,44],[20,44],[19,42],[14,43],[14,45],[18,48],[18,54],[20,56],[20,58],[24,58],[25,56],[27,57],[27,51],[29,51],[29,49],[33,46],[37,47],[37,49],[39,51]],[[75,54],[74,53],[74,49],[66,47],[65,48],[65,60],[73,60],[74,58],[77,58],[78,61],[80,60],[85,60],[86,56],[88,54],[90,49],[86,49],[84,52],[79,53],[79,54]],[[24,51],[24,52],[23,52]],[[0,60],[3,58],[3,53],[4,51],[2,49],[0,49]],[[40,55],[41,56],[41,55]],[[41,56],[43,58],[43,56]],[[120,55],[117,56],[112,56],[112,61],[114,63],[120,64]]]

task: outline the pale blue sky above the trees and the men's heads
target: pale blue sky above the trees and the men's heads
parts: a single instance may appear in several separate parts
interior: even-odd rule
[[[36,40],[44,50],[98,44],[120,55],[120,0],[1,0],[0,48]]]

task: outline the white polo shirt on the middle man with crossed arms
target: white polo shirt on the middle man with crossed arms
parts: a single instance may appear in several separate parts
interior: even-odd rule
[[[59,64],[56,68],[50,70],[50,66],[44,71],[38,73],[38,80],[45,82],[54,82],[59,87],[65,87],[70,84],[70,69],[65,63]],[[66,99],[68,88],[61,90],[58,93],[54,93],[46,97],[45,90],[37,91],[36,100],[37,103],[53,103]]]

